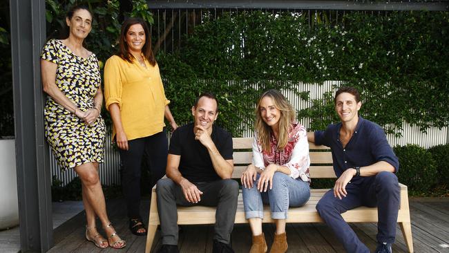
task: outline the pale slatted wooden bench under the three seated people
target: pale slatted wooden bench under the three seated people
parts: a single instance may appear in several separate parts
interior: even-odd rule
[[[251,163],[251,147],[253,138],[233,138],[233,161],[234,171],[232,178],[240,179],[242,171],[246,169],[246,165]],[[332,167],[332,154],[330,149],[325,146],[316,146],[309,143],[310,160],[310,177],[312,178],[336,178],[334,169]],[[408,207],[408,192],[407,186],[399,184],[401,187],[401,203],[398,213],[398,223],[401,226],[402,234],[405,243],[408,246],[408,251],[413,252],[412,244],[412,229],[410,224],[410,211]],[[322,223],[323,220],[316,212],[316,203],[329,189],[312,189],[309,201],[303,207],[289,208],[287,223]],[[159,216],[157,215],[155,187],[153,194],[151,194],[151,207],[149,213],[148,235],[146,237],[145,252],[149,253],[153,245],[153,239],[160,224]],[[215,223],[214,207],[178,207],[178,224],[180,225],[198,225],[198,224],[214,224]],[[350,223],[365,223],[377,222],[377,208],[376,207],[357,207],[345,212],[343,218]],[[247,223],[245,219],[245,211],[243,209],[242,193],[238,197],[238,207],[236,213],[235,223]],[[274,223],[271,218],[268,206],[264,208],[263,223]],[[250,242],[249,242],[250,243]]]

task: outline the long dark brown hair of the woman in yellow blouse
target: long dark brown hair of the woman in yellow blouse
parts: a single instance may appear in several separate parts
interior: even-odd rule
[[[119,39],[119,53],[118,56],[122,57],[122,59],[133,62],[133,55],[129,53],[128,44],[126,44],[126,32],[128,32],[129,28],[135,24],[140,24],[142,28],[144,28],[145,32],[145,44],[142,48],[142,53],[144,57],[150,62],[152,66],[156,65],[156,59],[153,55],[153,50],[151,49],[151,35],[150,29],[144,19],[140,17],[130,17],[126,19],[122,24],[122,30],[120,31],[120,39]]]

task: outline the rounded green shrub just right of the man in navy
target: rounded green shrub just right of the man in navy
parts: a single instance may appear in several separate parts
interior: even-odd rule
[[[437,166],[429,151],[415,144],[394,147],[399,158],[399,182],[411,195],[426,194],[437,184]]]

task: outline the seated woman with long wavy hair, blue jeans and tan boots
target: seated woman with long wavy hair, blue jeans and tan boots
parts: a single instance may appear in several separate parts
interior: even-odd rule
[[[287,251],[285,220],[289,207],[310,197],[307,131],[295,121],[292,104],[276,90],[263,93],[256,106],[253,162],[242,173],[245,217],[253,234],[249,252],[267,252],[262,233],[263,203],[269,204],[276,233],[271,253]]]

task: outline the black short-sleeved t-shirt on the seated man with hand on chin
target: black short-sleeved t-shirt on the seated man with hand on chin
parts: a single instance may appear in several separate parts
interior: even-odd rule
[[[221,179],[213,169],[206,147],[195,140],[193,123],[176,129],[171,135],[169,153],[181,156],[179,170],[191,182],[210,182]],[[231,134],[216,125],[212,126],[211,139],[225,160],[232,160]]]

